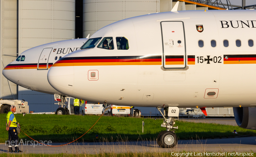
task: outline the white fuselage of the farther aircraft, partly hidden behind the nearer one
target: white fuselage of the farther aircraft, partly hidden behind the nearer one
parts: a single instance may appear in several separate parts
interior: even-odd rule
[[[61,94],[49,85],[48,70],[61,57],[80,49],[86,41],[86,38],[70,39],[28,49],[15,61],[5,66],[3,75],[27,89],[48,94]]]

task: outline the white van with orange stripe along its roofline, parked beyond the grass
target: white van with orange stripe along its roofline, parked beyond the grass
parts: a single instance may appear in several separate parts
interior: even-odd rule
[[[102,113],[103,112],[109,116],[130,116],[131,107],[106,104],[102,110]]]

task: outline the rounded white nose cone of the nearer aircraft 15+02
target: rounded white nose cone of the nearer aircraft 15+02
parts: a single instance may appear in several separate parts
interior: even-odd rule
[[[73,65],[73,63],[71,63]],[[47,79],[50,85],[62,94],[72,96],[74,84],[74,66],[53,66],[49,69]]]

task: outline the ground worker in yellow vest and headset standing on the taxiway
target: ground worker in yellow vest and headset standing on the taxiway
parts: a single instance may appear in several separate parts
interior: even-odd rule
[[[10,110],[6,116],[7,123],[6,123],[6,130],[8,131],[8,148],[9,152],[21,153],[22,151],[19,150],[18,146],[18,131],[17,131],[17,121],[13,113],[16,112],[16,106],[12,105]],[[15,151],[13,151],[12,143],[15,142]]]

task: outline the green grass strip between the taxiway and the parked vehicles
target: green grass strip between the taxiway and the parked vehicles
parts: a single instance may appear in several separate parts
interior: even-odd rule
[[[21,130],[37,141],[66,142],[77,139],[84,134],[100,118],[100,116],[77,115],[35,115],[16,114],[17,122],[21,124]],[[142,120],[145,122],[142,133]],[[117,141],[117,140],[150,140],[156,139],[160,131],[162,118],[157,120],[150,118],[108,117],[102,116],[98,123],[82,136],[78,141]],[[8,139],[6,131],[6,114],[0,114],[0,143]],[[176,121],[179,129],[176,135],[179,139],[209,139],[235,137],[241,135],[256,136],[255,130],[243,129],[238,126],[221,125],[212,123],[193,123]],[[236,130],[239,134],[233,134]],[[96,139],[96,135],[99,136]],[[23,141],[30,141],[26,135],[19,135]]]

